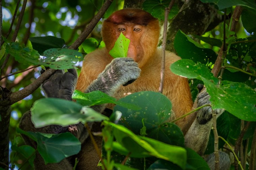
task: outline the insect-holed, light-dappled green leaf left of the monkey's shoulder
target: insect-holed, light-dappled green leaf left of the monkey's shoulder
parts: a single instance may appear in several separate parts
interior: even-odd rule
[[[67,48],[51,48],[43,52],[44,66],[51,69],[72,69],[76,62],[83,57],[83,54],[72,49]]]

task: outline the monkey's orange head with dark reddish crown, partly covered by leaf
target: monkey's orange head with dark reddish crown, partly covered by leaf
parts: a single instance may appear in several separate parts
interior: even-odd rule
[[[157,49],[159,21],[141,9],[126,8],[114,12],[104,22],[102,38],[110,51],[122,32],[130,39],[128,57],[142,67]]]

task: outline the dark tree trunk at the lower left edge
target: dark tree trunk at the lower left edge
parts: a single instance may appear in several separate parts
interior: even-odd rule
[[[11,102],[8,100],[7,96],[10,93],[11,92],[7,88],[0,86],[0,167],[6,170],[9,169],[9,123],[11,115]]]

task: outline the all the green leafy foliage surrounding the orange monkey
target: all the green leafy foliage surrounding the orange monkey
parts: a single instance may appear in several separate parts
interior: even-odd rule
[[[174,40],[174,47],[182,58],[171,66],[175,74],[190,80],[193,93],[197,93],[197,82],[206,86],[210,94],[213,109],[225,109],[217,120],[218,135],[235,146],[235,141],[241,135],[241,127],[251,124],[246,131],[243,142],[251,145],[256,123],[256,3],[253,0],[201,0],[211,2],[220,11],[227,8],[232,14],[232,6],[242,5],[243,11],[239,28],[230,31],[228,24],[220,23],[216,28],[204,35],[185,35],[178,31]],[[3,9],[14,13],[16,2],[3,1]],[[23,71],[29,66],[50,67],[52,69],[70,69],[74,64],[79,65],[82,53],[90,53],[97,48],[104,47],[100,38],[102,20],[88,38],[77,50],[67,49],[68,45],[81,34],[92,17],[102,6],[102,1],[31,1],[27,5],[17,42],[11,42],[10,36],[1,44],[0,65],[4,63],[7,54],[10,59],[5,68],[1,68],[2,75]],[[160,20],[164,19],[164,9],[170,0],[146,0],[143,9]],[[122,8],[123,1],[115,0],[104,15],[108,17],[113,11]],[[34,16],[29,10],[33,10]],[[177,15],[179,9],[174,5],[169,19]],[[11,17],[7,18],[3,11],[3,36],[7,35]],[[19,11],[18,11],[19,13]],[[223,13],[222,13],[223,15]],[[29,19],[32,17],[33,19]],[[28,27],[28,25],[32,27]],[[17,21],[14,26],[18,25]],[[223,27],[226,35],[223,35]],[[29,29],[29,30],[28,30]],[[27,31],[28,30],[28,31]],[[29,34],[27,34],[27,32]],[[219,34],[217,34],[219,33]],[[30,37],[29,41],[26,37]],[[194,39],[196,38],[196,39]],[[226,58],[223,60],[223,74],[215,78],[210,72],[219,48],[226,38]],[[197,41],[196,41],[197,40]],[[200,40],[200,43],[198,43]],[[114,47],[113,57],[127,56],[129,41],[124,36],[116,43],[121,49]],[[25,44],[24,44],[25,43]],[[19,62],[19,63],[18,63]],[[79,69],[79,66],[78,66]],[[167,68],[168,69],[168,68]],[[1,81],[11,91],[18,91],[29,85],[39,76],[37,70],[17,73]],[[79,70],[78,70],[79,73]],[[195,90],[196,89],[196,90]],[[184,147],[184,136],[181,129],[174,123],[166,123],[171,116],[171,102],[162,94],[143,91],[116,100],[102,92],[94,91],[84,94],[75,91],[73,99],[76,102],[55,98],[42,98],[40,90],[12,105],[10,120],[11,156],[10,166],[22,169],[33,169],[35,152],[44,159],[45,163],[60,162],[62,159],[77,154],[81,143],[70,133],[57,135],[25,132],[16,129],[18,119],[22,113],[31,110],[35,127],[46,125],[68,126],[82,122],[103,121],[103,164],[107,169],[209,169],[206,162],[193,150]],[[42,99],[40,99],[42,98]],[[89,108],[93,105],[116,104],[112,115],[108,118]],[[0,117],[1,121],[1,117]],[[114,122],[114,123],[113,123]],[[241,123],[242,122],[242,123]],[[243,122],[245,122],[243,124]],[[37,148],[24,145],[19,136],[27,135],[37,143]],[[224,142],[219,140],[219,148],[223,149]],[[214,135],[211,131],[210,140],[205,154],[214,150]],[[248,147],[247,153],[251,150]],[[245,153],[245,154],[247,154]],[[123,164],[125,157],[129,157]],[[19,162],[23,162],[22,164]],[[145,165],[145,166],[144,166]],[[104,167],[105,168],[105,167]],[[1,168],[0,168],[1,169]]]

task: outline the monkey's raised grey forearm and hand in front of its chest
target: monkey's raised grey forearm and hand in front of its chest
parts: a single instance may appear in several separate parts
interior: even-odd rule
[[[132,58],[115,58],[87,88],[86,93],[100,90],[108,95],[112,95],[121,85],[126,86],[132,83],[139,75],[138,63]]]

